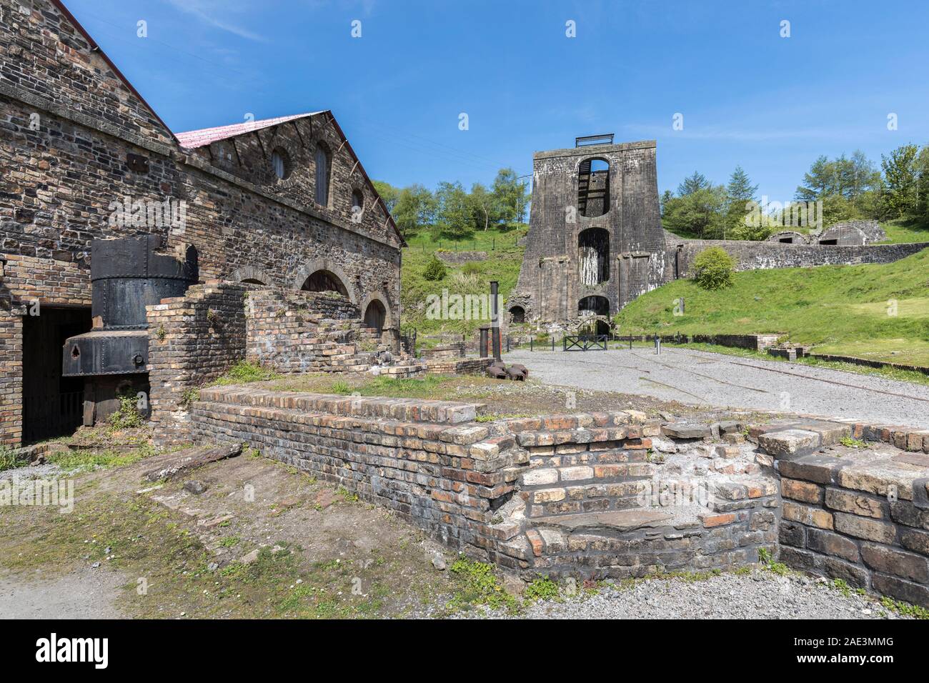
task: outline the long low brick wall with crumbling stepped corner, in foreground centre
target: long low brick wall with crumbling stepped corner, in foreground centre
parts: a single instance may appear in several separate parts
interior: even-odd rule
[[[660,426],[635,412],[478,423],[448,401],[213,387],[191,415],[198,439],[248,443],[526,578],[723,569],[778,536],[777,483],[753,463],[721,457],[705,505],[643,499]]]

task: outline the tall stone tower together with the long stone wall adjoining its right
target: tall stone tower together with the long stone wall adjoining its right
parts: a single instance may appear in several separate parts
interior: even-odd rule
[[[876,221],[765,242],[678,237],[661,228],[655,154],[654,140],[613,144],[608,134],[533,155],[530,230],[505,322],[605,334],[617,311],[689,277],[711,246],[734,256],[737,270],[887,263],[929,246],[874,244],[884,237]]]

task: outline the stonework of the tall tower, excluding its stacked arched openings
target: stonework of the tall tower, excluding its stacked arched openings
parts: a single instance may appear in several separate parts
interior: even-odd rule
[[[582,216],[577,209],[579,167],[590,158],[609,164],[608,210],[595,217]],[[603,174],[596,181],[606,178]],[[608,232],[608,279],[583,284],[578,243],[581,232],[590,228]],[[606,297],[614,313],[664,282],[663,253],[653,141],[534,155],[530,232],[511,296],[526,302],[527,320],[574,320],[585,296]]]

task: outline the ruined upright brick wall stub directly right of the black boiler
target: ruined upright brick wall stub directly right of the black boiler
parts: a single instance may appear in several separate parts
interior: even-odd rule
[[[160,443],[190,439],[196,390],[245,358],[245,294],[237,284],[194,285],[146,307],[151,423]]]

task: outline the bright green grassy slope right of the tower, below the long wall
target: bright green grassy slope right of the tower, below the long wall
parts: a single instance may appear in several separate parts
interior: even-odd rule
[[[674,316],[682,296],[686,312]],[[784,333],[821,353],[929,365],[929,249],[884,265],[737,273],[717,292],[678,280],[640,296],[617,320],[621,334]]]

